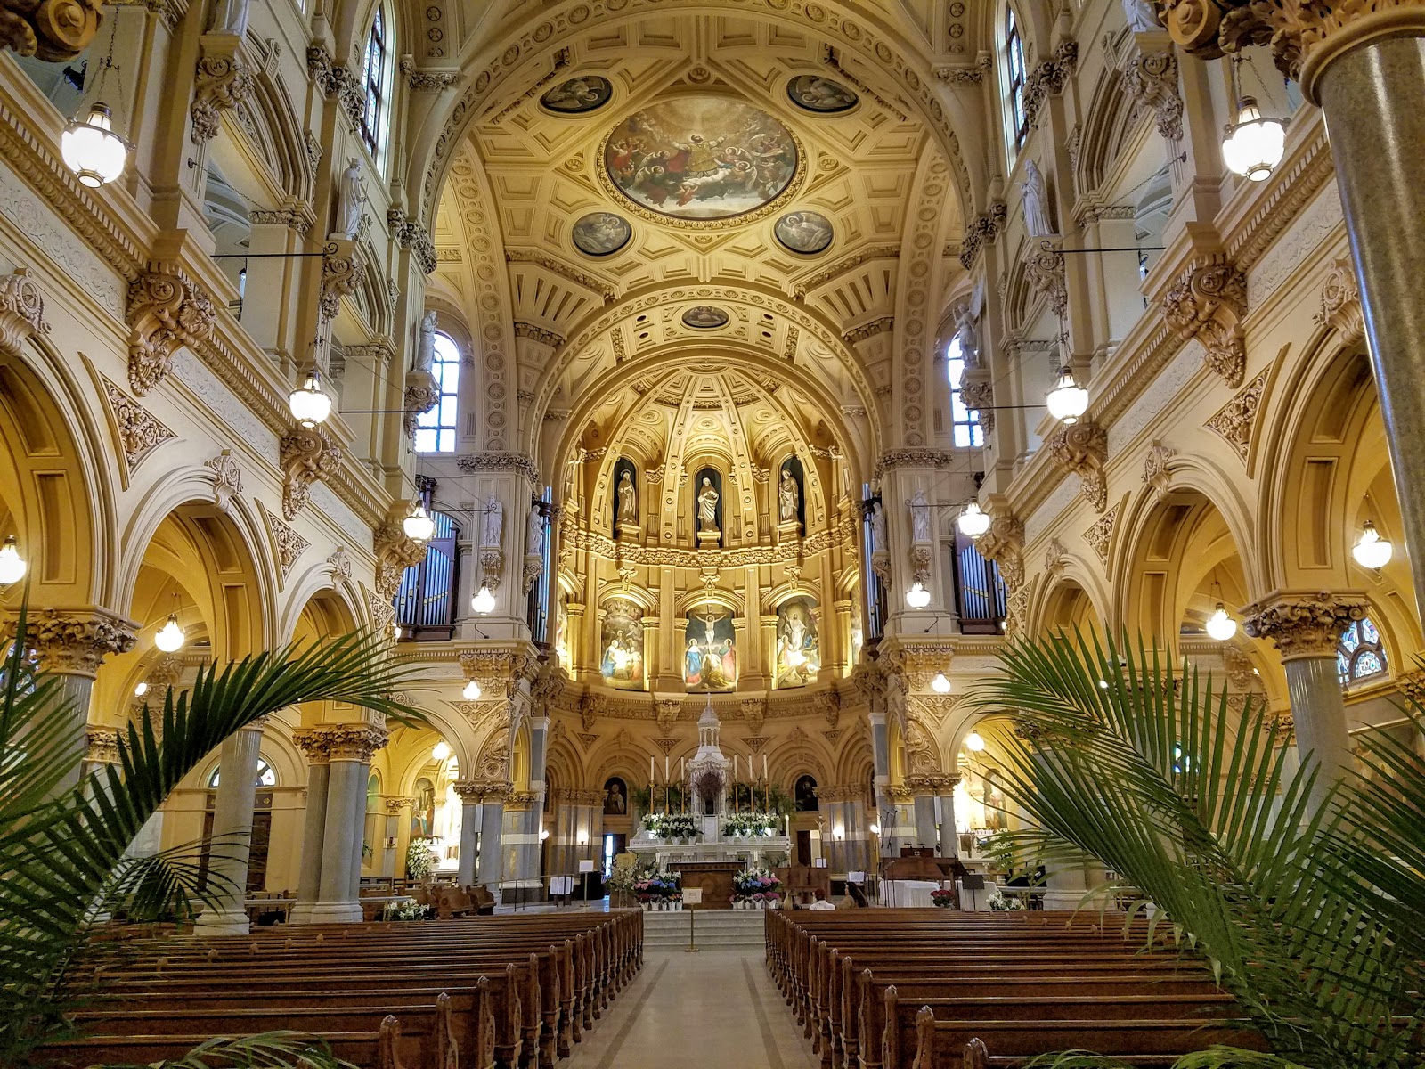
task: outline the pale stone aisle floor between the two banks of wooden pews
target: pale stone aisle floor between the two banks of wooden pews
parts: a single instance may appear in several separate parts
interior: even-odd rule
[[[817,1069],[762,948],[646,951],[643,971],[569,1069]]]

